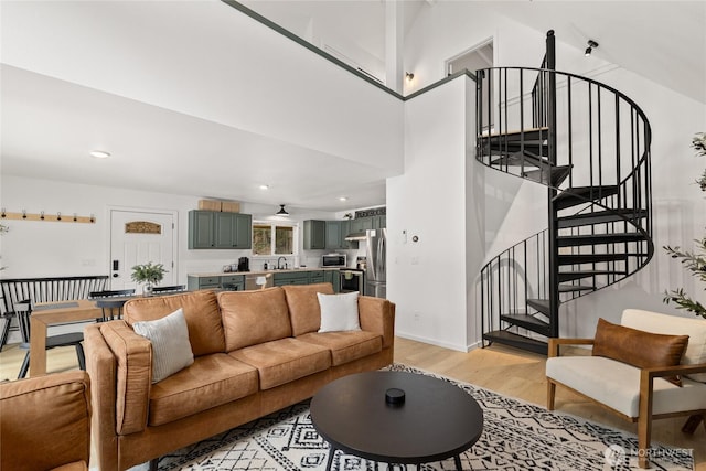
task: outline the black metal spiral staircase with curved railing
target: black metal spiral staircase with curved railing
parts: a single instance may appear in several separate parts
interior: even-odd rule
[[[650,124],[614,88],[554,67],[477,72],[477,159],[547,186],[547,228],[493,257],[478,280],[484,342],[546,354],[559,308],[653,256]]]

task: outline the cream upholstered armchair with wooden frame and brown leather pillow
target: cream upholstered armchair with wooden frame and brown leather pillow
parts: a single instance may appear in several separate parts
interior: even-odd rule
[[[561,345],[593,345],[592,355],[560,356]],[[653,419],[689,416],[684,431],[706,428],[705,320],[627,309],[620,325],[600,319],[595,339],[550,339],[548,356],[547,409],[559,385],[637,421],[641,468]]]

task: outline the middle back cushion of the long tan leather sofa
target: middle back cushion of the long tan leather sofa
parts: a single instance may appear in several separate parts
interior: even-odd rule
[[[281,288],[256,291],[222,291],[226,352],[291,336],[289,311]]]

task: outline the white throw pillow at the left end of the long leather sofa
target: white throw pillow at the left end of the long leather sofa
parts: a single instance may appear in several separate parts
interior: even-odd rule
[[[152,343],[152,384],[194,362],[189,328],[181,308],[162,319],[136,322],[132,329]]]

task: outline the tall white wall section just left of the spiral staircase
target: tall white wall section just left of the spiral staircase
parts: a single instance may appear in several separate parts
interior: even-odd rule
[[[483,256],[482,245],[467,251],[470,82],[459,77],[405,104],[405,173],[387,180],[387,298],[397,306],[396,333],[461,351],[474,331],[467,287]],[[475,228],[472,238],[482,233]]]

